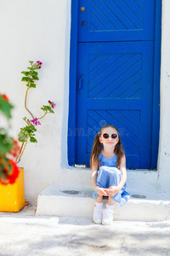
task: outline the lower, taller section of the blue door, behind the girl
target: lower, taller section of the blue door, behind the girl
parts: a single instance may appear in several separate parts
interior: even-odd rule
[[[76,164],[89,166],[96,133],[111,124],[128,168],[150,166],[153,49],[152,41],[78,44]]]

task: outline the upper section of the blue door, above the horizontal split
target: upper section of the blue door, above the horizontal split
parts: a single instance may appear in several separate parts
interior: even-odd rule
[[[154,26],[155,0],[78,1],[78,42],[154,40]]]

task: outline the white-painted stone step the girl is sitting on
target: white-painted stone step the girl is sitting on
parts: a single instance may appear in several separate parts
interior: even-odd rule
[[[129,191],[128,191],[129,192]],[[55,184],[44,189],[37,200],[37,215],[92,218],[93,190],[65,189]],[[170,218],[170,196],[157,192],[131,192],[131,199],[120,207],[115,203],[116,220],[161,221]],[[104,203],[106,200],[104,200]]]

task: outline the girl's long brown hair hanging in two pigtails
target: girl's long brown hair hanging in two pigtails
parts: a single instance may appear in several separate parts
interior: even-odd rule
[[[92,154],[90,157],[90,166],[92,167],[94,165],[94,163],[98,164],[99,167],[99,154],[101,152],[101,143],[99,142],[99,137],[102,135],[103,130],[105,128],[113,128],[117,131],[118,134],[118,130],[116,129],[116,127],[114,125],[105,125],[104,127],[101,128],[101,130],[99,131],[99,133],[95,136],[94,138],[94,147],[92,149]],[[119,137],[119,141],[116,144],[116,147],[114,149],[114,153],[117,155],[117,162],[116,162],[116,167],[118,168],[119,166],[121,166],[121,161],[122,161],[122,157],[125,155],[124,151],[122,149],[122,142],[121,142],[121,138]]]

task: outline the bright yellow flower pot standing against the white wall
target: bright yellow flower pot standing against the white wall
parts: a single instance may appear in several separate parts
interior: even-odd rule
[[[0,184],[0,212],[19,212],[25,206],[24,168],[14,184]]]

